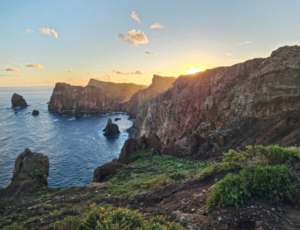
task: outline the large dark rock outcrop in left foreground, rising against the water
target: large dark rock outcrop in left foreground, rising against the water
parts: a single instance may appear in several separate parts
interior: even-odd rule
[[[12,196],[20,192],[34,192],[38,187],[47,186],[48,174],[48,157],[25,148],[14,160],[11,182],[1,189],[0,195]]]

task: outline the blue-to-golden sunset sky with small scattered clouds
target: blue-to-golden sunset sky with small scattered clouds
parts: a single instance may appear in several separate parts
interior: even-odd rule
[[[300,45],[300,0],[0,0],[0,86],[150,84]]]

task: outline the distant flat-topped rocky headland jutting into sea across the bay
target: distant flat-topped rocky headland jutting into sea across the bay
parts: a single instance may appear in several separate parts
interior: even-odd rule
[[[113,83],[90,79],[85,87],[56,83],[48,110],[72,110],[78,101],[80,110],[99,112],[113,110],[115,104],[129,100],[133,93],[145,88],[133,83]]]

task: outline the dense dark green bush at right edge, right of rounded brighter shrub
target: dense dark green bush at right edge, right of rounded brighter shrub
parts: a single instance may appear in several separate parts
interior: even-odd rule
[[[292,171],[284,164],[258,165],[242,169],[240,175],[249,182],[251,194],[279,203],[282,200],[295,201],[299,190],[292,182]]]

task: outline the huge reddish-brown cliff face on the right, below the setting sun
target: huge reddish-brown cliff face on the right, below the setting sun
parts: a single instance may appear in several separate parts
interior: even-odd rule
[[[181,75],[148,104],[137,137],[161,151],[203,155],[246,144],[300,144],[300,46]]]

